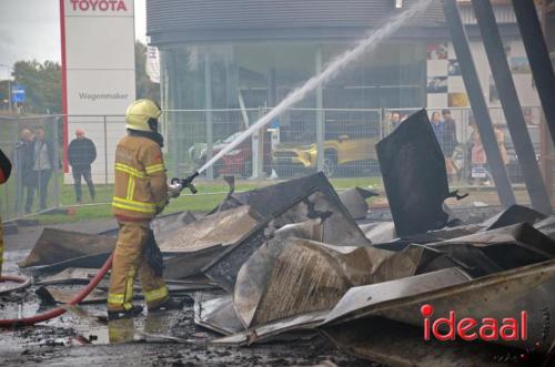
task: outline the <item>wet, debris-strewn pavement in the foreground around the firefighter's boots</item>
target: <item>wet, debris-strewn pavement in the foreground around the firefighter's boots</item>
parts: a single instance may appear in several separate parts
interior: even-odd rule
[[[27,254],[28,249],[8,248],[6,273],[22,274],[17,263]],[[0,317],[32,316],[53,307],[42,304],[36,289],[37,286],[31,286],[24,292],[0,296]],[[367,360],[340,353],[317,335],[249,348],[210,346],[209,340],[216,334],[194,325],[191,302],[183,310],[142,314],[135,319],[109,325],[104,316],[103,304],[83,305],[34,327],[0,329],[0,365],[369,366]]]

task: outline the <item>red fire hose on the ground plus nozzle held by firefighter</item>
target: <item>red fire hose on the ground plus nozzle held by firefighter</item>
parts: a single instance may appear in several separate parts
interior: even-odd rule
[[[173,191],[173,196],[184,190],[185,187],[189,188],[193,194],[196,193],[196,188],[193,185],[193,180],[199,175],[198,172],[194,172],[192,175],[185,179],[172,179],[171,183],[172,185],[170,186],[170,191]],[[73,296],[73,298],[70,299],[70,302],[64,305],[64,306],[74,306],[79,304],[81,300],[83,300],[91,292],[97,287],[97,285],[100,283],[100,281],[104,277],[104,275],[108,273],[108,271],[112,267],[112,259],[113,259],[113,254],[110,255],[110,257],[105,261],[104,265],[100,268],[99,273],[91,279],[91,282],[84,287],[81,292],[79,292],[77,295]],[[6,277],[7,281],[16,281],[18,282],[18,278],[8,278]],[[20,327],[20,326],[31,326],[37,323],[42,323],[52,318],[56,318],[62,314],[65,313],[65,307],[60,306],[56,307],[51,310],[48,310],[42,314],[38,314],[31,317],[22,317],[22,318],[11,318],[11,319],[0,319],[0,327]]]

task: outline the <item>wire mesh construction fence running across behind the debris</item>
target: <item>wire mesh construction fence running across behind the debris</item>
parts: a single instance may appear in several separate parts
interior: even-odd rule
[[[455,139],[441,141],[450,183],[493,185],[481,156],[480,136],[468,108],[450,109]],[[162,133],[169,176],[185,176],[232,143],[269,109],[169,110]],[[200,180],[234,175],[264,184],[323,171],[333,179],[381,179],[375,144],[417,109],[289,109],[262,131],[228,152]],[[441,114],[442,109],[430,109]],[[524,108],[528,132],[539,157],[541,108]],[[514,184],[522,184],[503,111],[491,109],[500,149]],[[443,129],[443,128],[442,128]],[[85,140],[78,140],[82,130]],[[0,186],[3,221],[75,204],[109,203],[117,142],[125,134],[124,116],[48,115],[0,120],[0,147],[14,170]],[[67,139],[64,139],[67,136]],[[88,140],[90,141],[88,141]],[[65,146],[70,149],[65,149]],[[46,146],[46,149],[43,147]],[[88,170],[89,163],[91,170]],[[202,194],[202,193],[200,193]]]

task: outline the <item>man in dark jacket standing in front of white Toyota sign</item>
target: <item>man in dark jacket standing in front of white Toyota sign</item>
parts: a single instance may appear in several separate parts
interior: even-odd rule
[[[68,159],[73,172],[73,185],[75,188],[75,198],[81,204],[81,176],[83,176],[89,186],[89,194],[94,201],[94,184],[91,177],[91,163],[97,159],[97,147],[92,140],[84,137],[84,130],[75,130],[75,136],[68,147]]]

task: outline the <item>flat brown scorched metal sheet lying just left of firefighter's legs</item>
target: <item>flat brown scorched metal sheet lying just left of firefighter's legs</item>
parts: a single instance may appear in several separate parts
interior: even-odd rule
[[[115,238],[97,234],[44,228],[20,267],[52,265],[78,257],[110,254]]]

